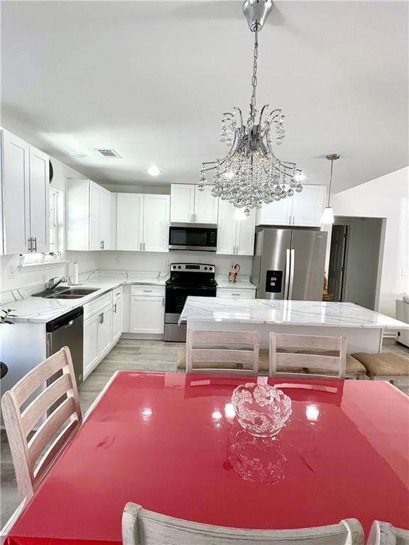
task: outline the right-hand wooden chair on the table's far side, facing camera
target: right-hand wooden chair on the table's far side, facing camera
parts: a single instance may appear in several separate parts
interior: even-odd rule
[[[286,352],[280,352],[280,348],[285,348]],[[302,353],[302,349],[314,353]],[[319,351],[337,351],[337,356],[323,355]],[[273,331],[270,334],[270,376],[272,377],[284,374],[298,375],[300,368],[307,368],[310,373],[303,374],[303,378],[322,376],[345,378],[346,358],[345,337],[277,334]],[[293,369],[296,371],[292,372]]]

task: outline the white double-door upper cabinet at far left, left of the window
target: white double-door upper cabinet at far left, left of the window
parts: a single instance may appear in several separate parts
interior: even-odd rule
[[[1,131],[4,254],[48,252],[48,155]]]

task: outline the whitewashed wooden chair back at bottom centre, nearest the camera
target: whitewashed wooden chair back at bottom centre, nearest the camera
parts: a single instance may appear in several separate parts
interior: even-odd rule
[[[127,503],[122,515],[123,545],[363,545],[356,519],[294,530],[253,530],[211,526],[167,517]]]

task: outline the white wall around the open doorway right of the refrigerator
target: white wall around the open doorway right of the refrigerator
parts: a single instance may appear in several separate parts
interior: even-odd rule
[[[409,292],[409,167],[332,197],[336,216],[386,218],[379,312],[395,316],[395,301]]]

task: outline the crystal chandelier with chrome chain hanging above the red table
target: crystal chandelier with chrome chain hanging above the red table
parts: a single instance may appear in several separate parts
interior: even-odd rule
[[[294,192],[301,192],[301,182],[305,180],[305,175],[295,163],[278,159],[271,147],[272,138],[279,145],[285,137],[281,110],[266,105],[258,114],[256,109],[258,32],[272,6],[272,0],[244,2],[243,12],[254,34],[249,117],[244,123],[243,114],[237,107],[233,113],[223,114],[220,141],[229,146],[229,151],[221,160],[202,163],[198,185],[199,191],[203,191],[207,184],[213,185],[213,197],[244,209],[246,216],[250,215],[250,209],[261,208],[263,203],[280,201],[292,197]],[[214,172],[212,181],[207,180],[207,172]]]

